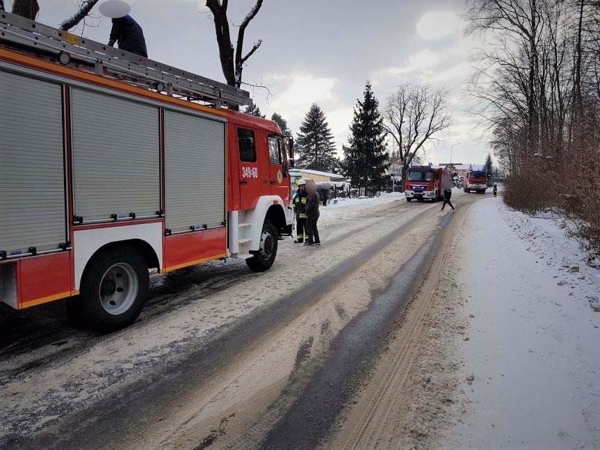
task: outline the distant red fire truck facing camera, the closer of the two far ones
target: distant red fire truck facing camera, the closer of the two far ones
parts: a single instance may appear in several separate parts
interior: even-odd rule
[[[404,194],[407,202],[412,199],[431,200],[437,202],[444,200],[444,190],[453,186],[452,172],[450,170],[435,169],[431,166],[412,166],[404,182]]]

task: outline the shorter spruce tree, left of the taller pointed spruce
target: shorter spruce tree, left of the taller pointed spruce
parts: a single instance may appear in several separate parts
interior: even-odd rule
[[[310,107],[300,124],[296,149],[298,166],[301,168],[329,171],[337,167],[333,135],[325,113],[316,103]]]

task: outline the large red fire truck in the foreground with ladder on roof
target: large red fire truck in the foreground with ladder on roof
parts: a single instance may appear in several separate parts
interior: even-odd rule
[[[136,320],[149,269],[265,271],[293,223],[291,139],[231,86],[0,14],[0,302]]]

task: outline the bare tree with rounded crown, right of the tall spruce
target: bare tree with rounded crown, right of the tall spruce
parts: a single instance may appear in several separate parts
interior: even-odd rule
[[[404,181],[408,168],[425,145],[450,126],[450,113],[444,88],[425,83],[404,83],[387,99],[384,127],[398,145],[396,163]]]

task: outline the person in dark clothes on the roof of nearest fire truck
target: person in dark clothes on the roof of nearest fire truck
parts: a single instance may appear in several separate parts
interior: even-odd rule
[[[131,7],[122,0],[108,0],[100,5],[100,13],[113,19],[113,29],[108,45],[118,42],[119,49],[148,57],[142,27],[129,15]]]

